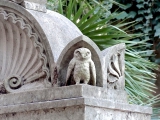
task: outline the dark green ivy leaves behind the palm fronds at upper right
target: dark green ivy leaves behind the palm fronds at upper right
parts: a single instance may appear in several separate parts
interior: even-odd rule
[[[119,11],[125,11],[128,14],[130,20],[137,21],[138,24],[134,27],[134,33],[144,34],[139,40],[147,40],[148,44],[154,44],[153,46],[147,45],[140,47],[139,50],[155,49],[157,52],[160,50],[160,1],[159,0],[116,0],[117,2],[124,4],[127,9],[120,8]],[[114,11],[115,6],[112,10]],[[158,56],[148,56],[148,59],[156,63],[160,63]],[[157,103],[157,105],[159,105]],[[154,119],[158,120],[157,116],[160,116],[160,108],[154,108]]]

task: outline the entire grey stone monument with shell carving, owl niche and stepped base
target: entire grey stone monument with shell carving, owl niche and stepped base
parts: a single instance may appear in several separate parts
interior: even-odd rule
[[[124,91],[125,44],[100,51],[46,2],[0,1],[0,119],[150,120]]]

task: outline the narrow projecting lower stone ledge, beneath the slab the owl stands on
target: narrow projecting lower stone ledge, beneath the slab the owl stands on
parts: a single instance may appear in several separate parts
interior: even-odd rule
[[[51,108],[73,107],[73,106],[92,106],[103,109],[111,109],[123,112],[132,112],[140,114],[152,114],[152,108],[138,105],[114,103],[108,100],[93,98],[72,98],[18,105],[8,105],[0,107],[0,114],[19,113],[27,111],[36,111]]]

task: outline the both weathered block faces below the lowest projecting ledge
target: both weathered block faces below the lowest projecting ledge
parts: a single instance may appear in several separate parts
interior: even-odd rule
[[[72,106],[0,115],[1,120],[150,120],[150,115],[99,107]]]

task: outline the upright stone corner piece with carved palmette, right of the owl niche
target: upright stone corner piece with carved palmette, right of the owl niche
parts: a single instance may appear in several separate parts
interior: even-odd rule
[[[102,51],[104,56],[104,73],[107,80],[108,89],[124,90],[125,75],[124,75],[124,54],[125,44],[118,44],[109,47]]]

